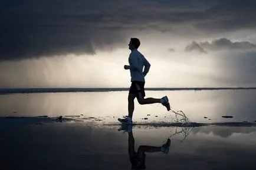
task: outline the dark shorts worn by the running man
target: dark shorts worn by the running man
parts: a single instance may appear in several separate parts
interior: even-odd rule
[[[133,81],[130,86],[129,94],[136,95],[136,98],[144,98],[145,97],[144,86],[145,86],[145,82]]]

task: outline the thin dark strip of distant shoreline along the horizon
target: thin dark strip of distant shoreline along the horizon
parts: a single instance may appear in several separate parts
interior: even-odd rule
[[[213,90],[247,90],[256,87],[237,88],[145,88],[146,91],[213,91]],[[129,88],[2,88],[0,95],[5,94],[31,94],[31,93],[56,93],[56,92],[110,92],[129,91]]]

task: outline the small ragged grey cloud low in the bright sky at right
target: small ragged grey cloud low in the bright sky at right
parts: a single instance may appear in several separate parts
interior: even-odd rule
[[[248,51],[248,50],[256,50],[256,45],[252,44],[248,41],[241,42],[232,42],[227,38],[215,39],[212,42],[195,42],[193,41],[191,44],[187,45],[185,51],[199,51],[202,53],[206,53],[206,50],[209,51],[219,51],[219,50],[240,50],[240,51]]]

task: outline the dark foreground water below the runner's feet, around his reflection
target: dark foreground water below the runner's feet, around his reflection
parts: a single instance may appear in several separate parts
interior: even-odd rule
[[[1,169],[131,169],[129,145],[137,152],[143,145],[162,146],[168,138],[167,154],[145,150],[146,169],[256,168],[254,126],[121,129],[83,122],[5,126],[0,129]]]

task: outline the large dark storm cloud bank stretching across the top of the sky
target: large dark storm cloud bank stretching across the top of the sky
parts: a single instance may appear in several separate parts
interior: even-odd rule
[[[1,1],[0,59],[94,54],[146,30],[255,28],[254,1]]]

